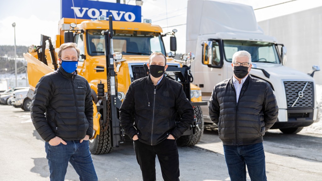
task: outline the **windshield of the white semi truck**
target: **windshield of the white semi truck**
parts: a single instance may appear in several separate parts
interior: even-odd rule
[[[232,55],[240,50],[251,53],[251,62],[279,63],[279,56],[274,43],[224,40],[225,58],[232,62]]]

